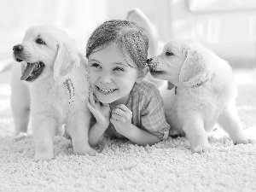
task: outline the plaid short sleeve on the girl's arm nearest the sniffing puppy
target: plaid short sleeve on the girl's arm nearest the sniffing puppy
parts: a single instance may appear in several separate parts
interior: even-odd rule
[[[170,125],[166,122],[165,110],[160,91],[155,88],[144,95],[142,126],[154,136],[164,140],[169,136]]]

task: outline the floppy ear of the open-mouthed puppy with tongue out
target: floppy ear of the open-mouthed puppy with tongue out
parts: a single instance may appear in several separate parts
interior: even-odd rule
[[[55,58],[54,78],[65,76],[73,68],[79,67],[80,58],[72,42],[58,42],[58,52]]]

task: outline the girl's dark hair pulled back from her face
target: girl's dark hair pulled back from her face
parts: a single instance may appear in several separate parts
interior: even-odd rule
[[[147,33],[143,27],[128,20],[108,20],[98,26],[88,40],[86,57],[113,43],[117,44],[125,61],[128,53],[139,69],[148,66]]]

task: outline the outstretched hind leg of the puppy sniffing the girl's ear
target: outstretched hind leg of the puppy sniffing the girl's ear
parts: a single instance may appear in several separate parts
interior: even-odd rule
[[[238,117],[236,104],[231,102],[227,107],[224,108],[223,112],[218,118],[218,124],[222,126],[226,131],[233,143],[235,144],[247,144],[256,143],[253,139],[247,139],[241,129],[241,121]]]

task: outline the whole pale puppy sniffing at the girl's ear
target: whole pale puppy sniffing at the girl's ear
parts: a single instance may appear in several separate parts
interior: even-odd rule
[[[236,111],[236,82],[228,62],[188,40],[172,40],[148,61],[154,78],[169,82],[160,90],[168,123],[189,139],[193,152],[207,151],[207,133],[218,123],[234,143],[247,139]]]

